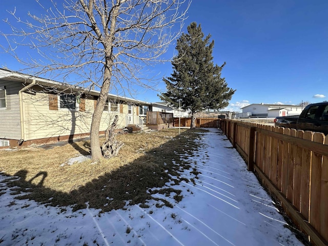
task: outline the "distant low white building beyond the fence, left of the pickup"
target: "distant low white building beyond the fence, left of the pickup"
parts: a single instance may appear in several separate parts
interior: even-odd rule
[[[295,105],[278,104],[250,104],[242,107],[242,113],[236,113],[236,117],[268,117],[299,115],[303,107]]]

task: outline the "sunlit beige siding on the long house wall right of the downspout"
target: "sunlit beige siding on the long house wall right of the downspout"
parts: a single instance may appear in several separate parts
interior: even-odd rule
[[[84,112],[64,109],[49,110],[49,96],[41,92],[36,95],[24,93],[24,105],[25,140],[90,132],[94,112],[93,98],[86,99]],[[118,128],[125,126],[125,114],[104,111],[100,131],[107,129],[115,114],[119,115]]]

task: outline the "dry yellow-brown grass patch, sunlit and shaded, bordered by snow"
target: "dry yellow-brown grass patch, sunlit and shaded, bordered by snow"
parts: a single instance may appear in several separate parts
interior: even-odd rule
[[[9,176],[6,182],[13,194],[52,206],[74,205],[75,209],[80,209],[88,202],[90,207],[103,211],[123,208],[126,201],[147,206],[147,199],[154,199],[151,194],[156,192],[175,192],[174,198],[179,201],[182,199],[180,191],[168,189],[165,183],[179,183],[181,180],[174,180],[168,174],[178,177],[183,169],[190,169],[189,163],[179,154],[192,154],[197,148],[194,139],[199,136],[192,130],[181,132],[180,136],[178,129],[118,135],[125,143],[119,155],[95,164],[87,160],[60,166],[80,153],[88,155],[89,141],[47,150],[0,151],[0,170]],[[150,188],[156,187],[158,190],[150,192]],[[28,193],[26,188],[29,188]],[[166,200],[158,200],[170,206]]]

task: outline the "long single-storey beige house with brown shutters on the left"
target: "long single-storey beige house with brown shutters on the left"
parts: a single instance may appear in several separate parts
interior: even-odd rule
[[[70,141],[90,135],[98,91],[0,69],[0,148]],[[118,127],[142,129],[151,104],[108,94],[100,134],[115,115]]]

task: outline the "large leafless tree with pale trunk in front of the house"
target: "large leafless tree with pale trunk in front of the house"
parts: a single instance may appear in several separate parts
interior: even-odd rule
[[[47,9],[36,0],[45,14],[29,13],[29,19],[22,20],[13,11],[18,25],[24,27],[8,22],[12,33],[3,35],[9,44],[7,52],[37,75],[56,74],[69,80],[75,74],[79,86],[100,88],[90,129],[92,159],[99,160],[99,125],[109,90],[129,90],[134,83],[149,86],[139,71],[161,61],[178,37],[190,5],[186,1],[64,0],[60,6],[51,1],[52,7]],[[179,27],[174,32],[175,24]],[[15,51],[18,46],[27,46],[38,56],[23,60]],[[127,81],[126,85],[122,81]]]

